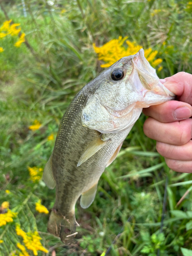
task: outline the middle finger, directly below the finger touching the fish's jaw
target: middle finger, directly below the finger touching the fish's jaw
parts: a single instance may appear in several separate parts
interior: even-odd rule
[[[192,138],[192,119],[172,123],[162,123],[151,117],[143,125],[144,134],[154,140],[173,144],[184,145]]]

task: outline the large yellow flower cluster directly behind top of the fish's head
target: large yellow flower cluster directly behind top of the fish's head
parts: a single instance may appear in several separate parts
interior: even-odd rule
[[[142,46],[137,45],[136,42],[131,42],[126,39],[127,37],[122,38],[122,36],[119,36],[118,39],[113,39],[101,47],[96,47],[95,44],[93,44],[94,50],[98,54],[98,59],[106,62],[101,65],[101,68],[108,68],[120,58],[136,54],[142,48]],[[128,46],[127,48],[123,47],[125,40]],[[155,59],[157,53],[158,51],[152,51],[152,48],[145,50],[145,58],[151,62],[154,68],[163,61],[160,58]]]

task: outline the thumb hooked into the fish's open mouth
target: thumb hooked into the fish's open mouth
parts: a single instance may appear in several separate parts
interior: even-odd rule
[[[179,72],[173,76],[163,79],[163,85],[177,95],[179,101],[192,104],[192,75]],[[161,82],[163,82],[161,80]]]

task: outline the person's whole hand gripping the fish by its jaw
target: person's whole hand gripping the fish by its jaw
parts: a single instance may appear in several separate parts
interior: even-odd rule
[[[161,82],[175,93],[177,101],[143,109],[149,116],[143,125],[144,134],[157,140],[157,151],[169,168],[192,173],[192,75],[180,72]]]

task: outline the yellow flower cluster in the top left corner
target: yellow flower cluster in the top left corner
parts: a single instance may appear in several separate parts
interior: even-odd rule
[[[3,23],[3,26],[0,28],[0,38],[3,38],[7,35],[16,36],[21,31],[21,28],[16,28],[16,27],[20,26],[20,24],[19,23],[11,24],[11,21],[12,20],[10,19],[10,20],[6,20],[6,22]],[[4,31],[4,32],[2,32],[2,31]],[[25,33],[22,33],[20,35],[19,40],[17,42],[15,42],[14,46],[20,47],[22,42],[25,42]],[[4,49],[2,47],[0,47],[0,52],[3,52],[3,51],[4,51]]]

